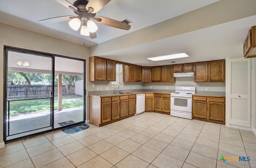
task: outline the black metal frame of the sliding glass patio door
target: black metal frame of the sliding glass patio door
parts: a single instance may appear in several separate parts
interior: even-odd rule
[[[10,139],[10,140],[6,139],[6,137],[7,137],[7,132],[6,132],[7,121],[6,121],[6,118],[7,118],[7,110],[8,110],[7,109],[7,103],[8,103],[8,101],[7,101],[8,51],[16,51],[16,52],[21,52],[21,53],[28,53],[28,54],[34,54],[34,55],[39,55],[39,56],[45,56],[45,57],[52,58],[52,96],[51,96],[51,121],[50,121],[51,122],[51,127],[52,127],[51,129],[45,130],[45,131],[42,131],[42,132],[38,132],[38,133],[29,134],[29,135],[26,135],[26,136],[20,136],[18,138],[13,138],[13,139]],[[83,85],[84,85],[83,113],[84,113],[84,117],[83,117],[83,121],[81,121],[79,123],[74,123],[72,125],[58,127],[58,128],[54,128],[54,76],[55,76],[55,73],[54,73],[55,62],[54,62],[54,60],[55,60],[55,57],[64,57],[64,58],[68,58],[68,59],[76,59],[76,60],[80,60],[80,61],[84,62],[84,73],[83,73],[83,78],[84,78],[84,83],[83,83]],[[24,138],[29,138],[29,137],[32,137],[32,136],[36,136],[36,135],[44,134],[44,133],[47,133],[47,132],[52,132],[52,131],[55,131],[55,130],[60,130],[60,129],[67,128],[67,127],[70,127],[70,126],[85,123],[85,121],[86,121],[86,60],[4,45],[4,97],[3,97],[3,100],[4,100],[4,106],[3,106],[4,107],[4,109],[3,109],[3,115],[4,115],[3,128],[4,128],[4,130],[3,130],[3,136],[4,136],[4,142],[5,143],[10,143],[10,142],[14,142],[14,141],[21,140],[21,139],[24,139]]]

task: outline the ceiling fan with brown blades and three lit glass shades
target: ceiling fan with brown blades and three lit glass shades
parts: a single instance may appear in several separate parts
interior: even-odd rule
[[[69,21],[68,24],[73,30],[80,30],[80,34],[83,36],[90,36],[90,38],[97,38],[96,31],[98,30],[97,25],[92,21],[119,28],[123,30],[129,30],[130,25],[103,16],[96,16],[96,12],[101,10],[110,0],[76,0],[74,4],[71,4],[67,0],[55,0],[63,6],[73,10],[77,16],[59,16],[55,18],[48,18],[39,20],[39,22],[45,23],[56,23]]]

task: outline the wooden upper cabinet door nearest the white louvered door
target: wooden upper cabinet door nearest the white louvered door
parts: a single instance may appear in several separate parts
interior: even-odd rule
[[[208,62],[208,81],[224,82],[225,81],[225,60]]]

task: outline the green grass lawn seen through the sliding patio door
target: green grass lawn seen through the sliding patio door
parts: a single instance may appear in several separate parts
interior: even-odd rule
[[[83,107],[83,97],[77,95],[62,96],[62,109]],[[58,109],[58,98],[54,97],[54,110]],[[50,111],[50,99],[10,101],[10,115]]]

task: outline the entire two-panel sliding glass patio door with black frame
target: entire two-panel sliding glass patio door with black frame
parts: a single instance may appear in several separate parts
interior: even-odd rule
[[[5,142],[84,123],[85,60],[5,47]]]

